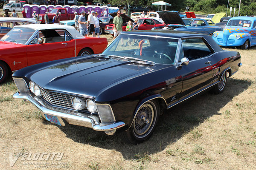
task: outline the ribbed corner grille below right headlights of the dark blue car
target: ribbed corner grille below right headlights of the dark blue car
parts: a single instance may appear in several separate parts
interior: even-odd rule
[[[109,105],[97,105],[99,119],[102,123],[113,123],[115,117],[113,116],[111,107]]]

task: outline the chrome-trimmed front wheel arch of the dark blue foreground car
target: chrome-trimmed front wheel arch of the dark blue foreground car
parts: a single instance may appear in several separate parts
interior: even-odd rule
[[[129,127],[127,130],[129,130],[132,126],[132,123],[134,122],[134,119],[137,115],[137,112],[139,110],[139,108],[144,105],[146,102],[151,101],[151,100],[155,100],[158,102],[159,106],[163,107],[162,109],[159,108],[160,112],[164,111],[165,109],[167,109],[167,103],[166,100],[163,98],[163,96],[161,96],[160,94],[154,94],[152,96],[148,96],[144,99],[142,99],[140,102],[138,102],[135,110],[134,110],[134,114],[133,114],[133,118],[131,119],[131,122],[129,122]],[[126,130],[125,130],[126,131]]]

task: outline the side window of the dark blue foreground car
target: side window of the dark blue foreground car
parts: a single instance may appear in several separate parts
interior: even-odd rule
[[[189,60],[200,59],[212,54],[202,38],[188,38],[182,40],[183,54]]]

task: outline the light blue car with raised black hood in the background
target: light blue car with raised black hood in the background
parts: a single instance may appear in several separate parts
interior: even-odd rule
[[[157,11],[166,26],[153,29],[171,29],[177,31],[191,31],[212,36],[215,31],[221,31],[218,26],[210,26],[207,20],[200,18],[181,18],[176,12]]]

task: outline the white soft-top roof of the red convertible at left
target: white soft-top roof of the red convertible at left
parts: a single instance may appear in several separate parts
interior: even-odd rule
[[[47,29],[65,29],[67,30],[72,37],[76,38],[84,38],[78,31],[76,31],[76,28],[73,26],[65,26],[65,25],[58,25],[58,24],[28,24],[23,26],[14,26],[14,28],[22,27],[22,28],[32,28],[35,30],[47,30]]]

